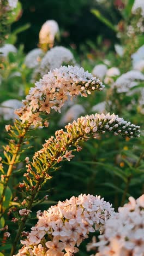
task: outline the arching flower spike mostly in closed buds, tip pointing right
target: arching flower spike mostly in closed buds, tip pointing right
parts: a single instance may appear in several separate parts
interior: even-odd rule
[[[65,126],[67,132],[58,130],[55,132],[55,137],[51,136],[43,148],[35,152],[33,156],[32,166],[37,170],[39,179],[47,177],[47,170],[55,167],[57,163],[68,160],[70,161],[75,155],[73,151],[79,152],[81,147],[80,141],[87,141],[90,137],[97,138],[98,134],[105,132],[121,135],[123,137],[139,137],[140,126],[130,124],[119,118],[117,115],[109,113],[86,115],[80,117],[72,124]],[[43,171],[39,167],[43,164]],[[29,175],[33,172],[32,166],[29,164],[25,176],[29,179]],[[50,178],[50,177],[48,177]]]

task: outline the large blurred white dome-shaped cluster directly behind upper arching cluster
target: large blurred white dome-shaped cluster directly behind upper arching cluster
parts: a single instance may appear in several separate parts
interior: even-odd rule
[[[47,74],[50,70],[59,68],[62,65],[74,65],[74,56],[70,50],[63,46],[53,47],[47,51],[40,63],[40,74]]]

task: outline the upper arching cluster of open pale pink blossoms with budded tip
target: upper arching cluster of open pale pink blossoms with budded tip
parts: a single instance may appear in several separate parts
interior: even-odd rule
[[[35,126],[42,121],[40,112],[50,114],[51,109],[60,112],[68,96],[71,100],[77,95],[87,97],[91,91],[101,91],[103,88],[100,80],[83,68],[63,66],[50,71],[36,82],[26,100],[22,101],[25,106],[17,109],[15,113],[20,116],[22,124],[28,121]]]

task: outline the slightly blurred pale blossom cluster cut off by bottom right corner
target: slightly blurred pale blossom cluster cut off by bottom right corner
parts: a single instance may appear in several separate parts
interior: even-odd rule
[[[88,249],[98,247],[97,256],[143,256],[144,255],[144,195],[138,199],[129,197],[129,203],[118,208],[118,214],[111,216],[105,224],[98,243],[93,242]]]

